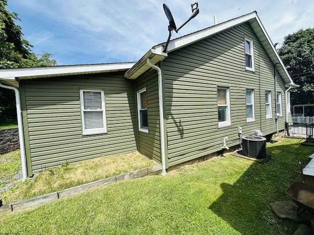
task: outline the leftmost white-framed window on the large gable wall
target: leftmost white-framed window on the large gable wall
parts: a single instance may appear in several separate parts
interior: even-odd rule
[[[218,128],[231,125],[229,97],[229,88],[217,88]]]

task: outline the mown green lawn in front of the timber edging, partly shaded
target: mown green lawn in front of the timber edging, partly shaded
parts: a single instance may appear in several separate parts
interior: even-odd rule
[[[269,203],[290,200],[297,160],[308,163],[314,149],[282,139],[267,151],[263,165],[227,155],[0,214],[0,233],[292,235],[299,224],[277,218]]]

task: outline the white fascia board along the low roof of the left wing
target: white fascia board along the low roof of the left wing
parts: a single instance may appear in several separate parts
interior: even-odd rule
[[[72,65],[72,66],[55,66],[55,67],[38,67],[38,68],[21,68],[21,69],[3,69],[0,70],[0,79],[8,77],[18,77],[27,79],[41,76],[56,76],[79,73],[93,72],[110,72],[123,71],[130,69],[135,63],[115,63],[99,65]]]

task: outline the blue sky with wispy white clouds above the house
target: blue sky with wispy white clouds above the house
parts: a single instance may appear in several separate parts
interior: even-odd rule
[[[177,27],[191,16],[191,0],[8,0],[19,14],[24,38],[36,54],[53,54],[57,65],[137,61],[165,42],[166,3]],[[313,0],[198,0],[200,14],[172,38],[257,11],[273,43],[314,27]]]

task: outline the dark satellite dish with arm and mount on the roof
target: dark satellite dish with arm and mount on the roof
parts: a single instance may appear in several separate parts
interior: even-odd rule
[[[163,3],[163,10],[165,11],[165,14],[166,14],[166,16],[167,16],[167,18],[169,20],[169,25],[168,25],[169,37],[168,37],[166,45],[163,48],[163,52],[167,51],[167,47],[168,47],[168,44],[169,44],[169,41],[170,41],[170,38],[171,38],[171,35],[172,35],[172,31],[175,30],[176,33],[178,33],[178,31],[186,23],[188,23],[190,20],[192,20],[194,17],[196,17],[197,14],[200,12],[200,10],[198,9],[198,3],[197,2],[195,2],[194,4],[192,3],[191,4],[191,8],[192,8],[192,16],[186,22],[184,22],[179,28],[177,28],[175,20],[173,19],[173,16],[171,14],[171,11],[170,11],[169,7],[165,3]]]

